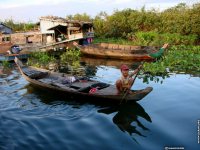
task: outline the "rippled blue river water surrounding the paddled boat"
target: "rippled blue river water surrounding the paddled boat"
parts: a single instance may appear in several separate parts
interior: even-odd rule
[[[100,64],[93,78],[114,84],[118,67]],[[172,74],[149,84],[137,78],[132,88],[147,86],[153,91],[138,103],[80,103],[35,89],[13,69],[0,78],[0,149],[199,149],[200,78]]]

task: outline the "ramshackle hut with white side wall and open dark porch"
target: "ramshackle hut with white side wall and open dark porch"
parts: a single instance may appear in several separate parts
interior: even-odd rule
[[[67,20],[55,16],[40,18],[40,31],[48,42],[87,40],[94,37],[92,22]]]

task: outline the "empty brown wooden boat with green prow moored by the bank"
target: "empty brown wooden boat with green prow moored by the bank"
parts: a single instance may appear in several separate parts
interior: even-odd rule
[[[150,46],[131,46],[109,43],[98,43],[82,46],[76,44],[75,42],[73,44],[80,49],[83,55],[95,56],[98,58],[152,61],[161,57],[163,54],[163,49]]]

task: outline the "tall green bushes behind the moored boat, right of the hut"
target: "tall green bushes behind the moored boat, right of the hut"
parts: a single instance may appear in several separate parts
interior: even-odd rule
[[[115,11],[110,16],[106,13],[100,13],[95,17],[93,23],[96,36],[101,38],[124,38],[134,41],[136,37],[142,36],[141,38],[150,38],[151,40],[155,37],[153,34],[157,33],[159,35],[166,34],[166,38],[170,40],[175,35],[176,40],[173,42],[182,44],[188,42],[186,38],[188,35],[192,35],[194,42],[199,40],[199,18],[200,3],[192,7],[180,3],[163,12],[154,9],[147,11],[143,7],[141,10],[124,9]],[[148,37],[139,34],[144,32],[148,32]],[[194,36],[196,37],[194,38]],[[144,40],[146,41],[146,39]],[[189,43],[191,44],[191,41]]]

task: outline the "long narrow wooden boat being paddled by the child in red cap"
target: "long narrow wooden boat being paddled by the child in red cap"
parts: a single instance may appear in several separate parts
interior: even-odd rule
[[[94,102],[139,101],[152,91],[152,87],[132,91],[132,94],[118,95],[116,87],[107,83],[90,80],[84,77],[74,77],[63,73],[50,72],[44,69],[24,66],[16,57],[22,76],[31,84],[48,90],[62,93],[65,96],[78,97],[78,99]],[[75,79],[75,80],[74,80]],[[63,96],[64,96],[63,95]]]

